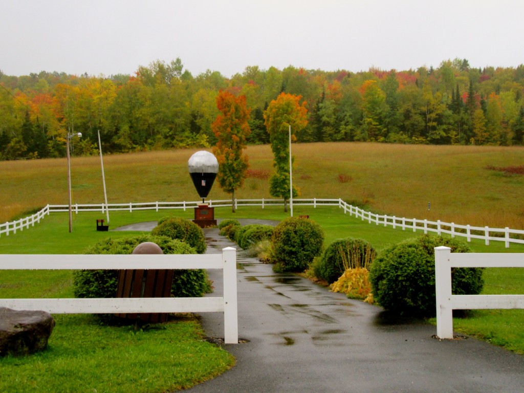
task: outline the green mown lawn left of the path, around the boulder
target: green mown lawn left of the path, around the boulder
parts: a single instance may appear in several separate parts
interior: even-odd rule
[[[51,214],[35,227],[2,236],[0,253],[81,254],[104,237],[129,236],[97,232],[96,218],[100,214],[75,215],[69,233],[68,214]],[[114,214],[115,226],[158,218],[146,212]],[[2,298],[67,298],[73,297],[72,289],[69,270],[0,273]],[[92,315],[53,317],[56,326],[47,351],[0,358],[0,391],[158,393],[189,388],[235,363],[231,354],[206,342],[198,321],[187,315],[138,331],[134,325],[101,324]]]

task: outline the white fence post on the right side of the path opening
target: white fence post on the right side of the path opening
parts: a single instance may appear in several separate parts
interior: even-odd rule
[[[435,247],[436,335],[441,339],[453,339],[450,257],[450,247]]]

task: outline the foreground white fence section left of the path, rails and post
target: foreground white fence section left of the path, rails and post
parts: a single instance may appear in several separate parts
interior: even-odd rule
[[[0,307],[52,314],[223,312],[224,342],[238,343],[236,249],[206,255],[2,255],[0,270],[223,269],[223,297],[0,299]]]

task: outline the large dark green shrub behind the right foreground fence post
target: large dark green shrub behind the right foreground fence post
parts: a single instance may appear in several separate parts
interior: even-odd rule
[[[457,239],[423,235],[389,247],[374,260],[369,280],[375,301],[400,314],[434,316],[435,252],[438,246],[453,253],[468,253],[468,245]],[[452,268],[455,294],[478,294],[484,280],[481,268]]]

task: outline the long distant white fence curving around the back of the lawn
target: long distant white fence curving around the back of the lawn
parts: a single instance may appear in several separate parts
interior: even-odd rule
[[[72,209],[75,213],[85,211],[99,211],[105,213],[109,211],[138,211],[138,210],[165,210],[165,209],[193,209],[201,202],[147,202],[147,203],[110,203],[110,204],[74,204]],[[210,206],[214,207],[226,207],[231,206],[231,200],[219,200],[219,201],[206,201]],[[241,206],[260,206],[264,209],[266,206],[281,206],[283,200],[281,199],[236,199],[235,206],[239,208]],[[369,224],[374,223],[376,225],[391,226],[393,228],[402,228],[403,231],[412,230],[424,231],[424,233],[432,232],[438,235],[447,234],[451,237],[460,236],[465,237],[468,242],[471,239],[483,239],[486,245],[489,245],[490,241],[504,242],[506,248],[509,248],[510,243],[524,244],[524,230],[513,230],[508,227],[505,228],[490,228],[487,226],[471,226],[471,225],[459,225],[455,223],[446,223],[440,220],[428,221],[428,220],[417,220],[407,219],[405,217],[396,217],[389,215],[380,215],[372,212],[367,212],[347,204],[342,199],[293,199],[293,205],[297,206],[313,206],[318,208],[319,206],[339,206],[340,209],[344,210],[344,213],[350,213],[351,216],[361,218],[362,221],[367,221]],[[17,230],[23,230],[29,228],[29,225],[34,226],[35,222],[40,222],[45,215],[54,212],[66,212],[69,209],[69,205],[47,205],[40,212],[21,219],[18,221],[8,222],[0,224],[0,236],[2,234],[9,235],[9,233],[16,233]]]

